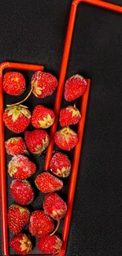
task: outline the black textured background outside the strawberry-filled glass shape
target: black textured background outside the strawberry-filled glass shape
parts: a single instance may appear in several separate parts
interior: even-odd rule
[[[58,78],[70,3],[1,1],[0,62],[44,64]],[[79,6],[67,76],[92,83],[66,256],[122,254],[121,28],[120,14]]]

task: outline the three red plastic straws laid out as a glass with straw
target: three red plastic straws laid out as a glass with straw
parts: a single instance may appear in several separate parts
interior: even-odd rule
[[[62,58],[61,63],[61,72],[59,77],[59,83],[57,87],[57,95],[56,95],[56,101],[55,101],[55,107],[54,112],[56,115],[54,124],[51,127],[50,130],[50,144],[47,149],[46,153],[46,162],[45,162],[45,170],[49,169],[50,166],[50,159],[52,157],[53,149],[54,149],[54,134],[57,130],[57,122],[58,122],[58,115],[61,108],[61,99],[63,94],[63,88],[65,83],[65,75],[68,67],[68,57],[69,52],[71,48],[72,43],[72,33],[73,28],[76,20],[76,10],[79,5],[79,2],[87,2],[94,6],[100,6],[105,9],[111,9],[113,11],[116,11],[118,13],[122,13],[122,7],[116,6],[113,4],[110,4],[108,2],[103,2],[101,0],[74,0],[72,2],[72,7],[70,11],[69,21],[68,21],[68,31],[65,39],[65,49],[64,54]],[[3,255],[9,255],[9,245],[8,245],[8,226],[7,226],[7,209],[6,209],[6,168],[5,168],[5,149],[4,149],[4,125],[3,125],[3,94],[2,94],[2,73],[3,70],[6,68],[13,68],[13,69],[28,69],[28,70],[43,70],[43,66],[39,65],[28,65],[28,64],[20,64],[20,63],[10,63],[5,62],[0,65],[0,154],[1,154],[1,198],[2,198],[2,247],[3,247]],[[78,167],[79,167],[79,157],[80,157],[80,150],[82,147],[82,139],[83,139],[83,129],[85,124],[85,118],[87,113],[87,102],[88,102],[88,96],[90,91],[90,84],[91,80],[87,80],[88,86],[87,91],[83,95],[82,98],[82,105],[80,113],[82,115],[81,120],[79,121],[79,127],[78,127],[78,136],[79,136],[79,143],[76,146],[75,154],[74,154],[74,160],[72,165],[72,175],[69,185],[69,191],[68,191],[68,211],[65,216],[65,224],[63,228],[63,234],[62,234],[62,240],[63,240],[63,246],[61,248],[60,254],[57,254],[57,256],[65,256],[67,242],[68,242],[68,232],[70,228],[70,221],[72,216],[72,206],[73,206],[73,199],[75,195],[75,188],[76,188],[76,178],[78,173]],[[36,256],[32,254],[33,256]],[[31,256],[32,256],[31,255]],[[46,255],[43,255],[46,256]],[[51,256],[48,254],[48,256]]]

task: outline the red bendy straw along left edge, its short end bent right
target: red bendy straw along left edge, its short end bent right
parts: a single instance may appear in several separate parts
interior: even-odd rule
[[[6,166],[5,166],[5,139],[4,139],[4,124],[3,124],[3,90],[2,90],[2,74],[4,69],[28,69],[28,70],[41,70],[43,65],[21,64],[14,62],[3,62],[0,65],[0,163],[1,163],[1,213],[2,213],[2,248],[3,255],[9,255],[8,245],[8,225],[7,225],[7,200],[6,200]]]

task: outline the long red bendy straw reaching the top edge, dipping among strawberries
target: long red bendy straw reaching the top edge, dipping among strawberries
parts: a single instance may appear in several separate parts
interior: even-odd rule
[[[111,9],[113,11],[122,13],[121,6],[116,6],[116,5],[110,4],[109,2],[103,2],[101,0],[74,0],[72,2],[69,21],[68,21],[68,30],[67,30],[66,39],[65,39],[65,48],[64,48],[63,58],[61,62],[59,83],[57,87],[57,96],[55,100],[55,107],[54,107],[55,121],[50,130],[50,144],[46,154],[45,170],[49,169],[50,160],[51,160],[52,152],[54,148],[54,134],[57,131],[58,114],[61,108],[61,98],[62,98],[64,83],[65,83],[65,75],[68,67],[68,58],[69,58],[69,53],[70,53],[70,48],[72,43],[73,29],[74,29],[75,20],[76,20],[76,11],[77,11],[79,2],[87,2],[94,6],[100,6],[105,9]]]

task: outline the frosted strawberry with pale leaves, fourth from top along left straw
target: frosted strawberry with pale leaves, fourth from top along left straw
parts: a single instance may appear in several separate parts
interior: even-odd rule
[[[36,166],[27,157],[18,154],[9,161],[8,173],[16,179],[27,179],[36,171]]]

